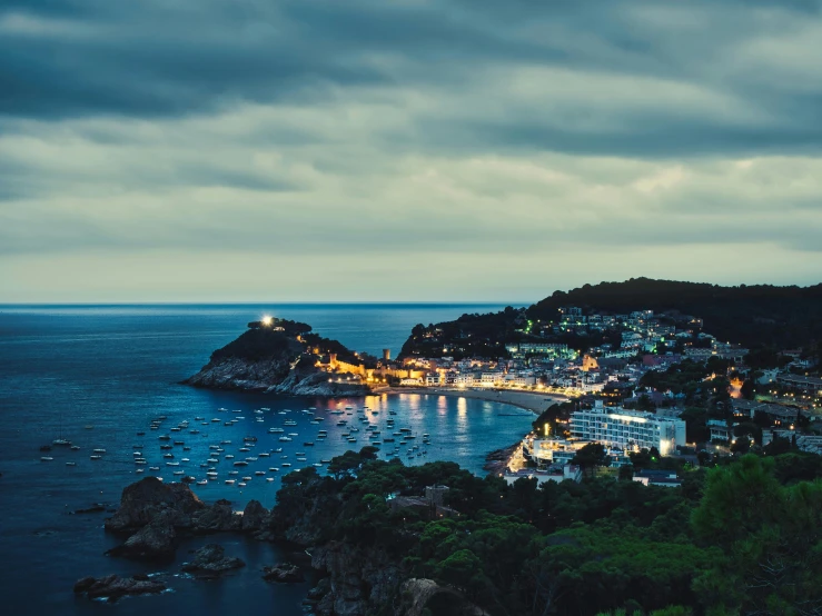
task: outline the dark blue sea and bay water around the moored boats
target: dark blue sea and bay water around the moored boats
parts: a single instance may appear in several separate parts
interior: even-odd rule
[[[502,308],[491,305],[0,306],[3,613],[303,614],[300,602],[310,587],[309,582],[269,585],[260,579],[260,568],[284,556],[275,546],[234,535],[202,537],[184,544],[177,562],[158,569],[103,556],[106,549],[118,543],[102,530],[108,514],[72,515],[71,511],[93,503],[115,507],[123,487],[149,474],[172,481],[179,479],[172,473],[184,470],[202,480],[207,468],[200,465],[218,473],[208,485],[192,486],[205,500],[228,498],[241,510],[248,500],[256,498],[270,507],[275,504],[279,477],[295,468],[321,465],[320,460],[347,448],[359,449],[368,443],[368,426],[380,433],[377,436],[380,439],[399,428],[410,429],[417,438],[408,439],[397,454],[406,464],[454,460],[481,474],[485,455],[516,441],[528,430],[532,415],[496,403],[433,395],[283,398],[194,389],[179,381],[205,365],[212,350],[240,335],[248,321],[265,314],[308,322],[315,331],[359,351],[378,355],[382,349],[390,348],[396,355],[417,322],[437,322],[464,312]],[[363,411],[364,407],[368,410]],[[159,417],[166,419],[159,429],[151,430],[150,423]],[[317,421],[318,417],[323,420]],[[389,418],[396,421],[394,429],[386,427]],[[290,425],[293,421],[296,426]],[[337,425],[339,421],[346,425]],[[179,430],[171,431],[181,424]],[[359,433],[350,431],[351,427],[358,427]],[[270,434],[269,428],[284,431]],[[317,438],[320,429],[327,431],[327,438]],[[295,435],[291,441],[279,440],[289,433]],[[356,437],[357,443],[348,443],[343,434]],[[423,434],[430,435],[430,445],[422,444]],[[159,447],[164,443],[158,438],[160,435],[185,443],[172,447],[174,458],[162,457],[168,451]],[[71,440],[81,449],[55,447],[50,453],[39,451],[40,445],[58,437]],[[247,447],[249,451],[239,451],[244,437],[257,438]],[[394,438],[395,444],[383,445],[384,451],[398,446],[400,437]],[[231,443],[224,443],[228,440]],[[414,445],[418,449],[409,456],[408,449]],[[184,451],[184,446],[189,450]],[[224,449],[219,463],[206,461],[212,450],[209,446]],[[106,453],[100,454],[101,459],[92,460],[93,449],[106,449]],[[146,465],[135,464],[136,451],[147,459]],[[228,455],[235,458],[226,459]],[[41,456],[53,460],[41,461]],[[247,467],[234,467],[232,461],[246,457],[257,459]],[[67,466],[67,461],[76,466]],[[179,466],[167,466],[168,461]],[[159,470],[151,471],[151,467]],[[143,473],[138,474],[138,468]],[[230,475],[231,470],[238,470],[238,475]],[[318,470],[321,473],[323,467]],[[241,488],[237,483],[242,476],[251,479]],[[237,483],[225,483],[231,478]],[[247,567],[214,582],[179,576],[179,564],[188,558],[188,552],[211,542],[221,543],[229,555],[245,559]],[[111,573],[158,574],[171,592],[126,598],[115,605],[73,596],[71,587],[78,578]]]

